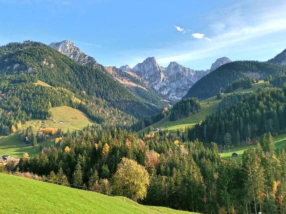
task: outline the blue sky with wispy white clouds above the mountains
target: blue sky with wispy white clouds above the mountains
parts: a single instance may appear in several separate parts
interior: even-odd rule
[[[286,49],[286,0],[0,0],[0,45],[68,39],[104,66],[209,69]]]

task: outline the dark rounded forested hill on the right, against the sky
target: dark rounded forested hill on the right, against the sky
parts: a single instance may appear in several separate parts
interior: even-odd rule
[[[215,96],[219,91],[224,92],[236,80],[245,77],[261,80],[269,75],[275,77],[279,74],[286,74],[285,66],[258,61],[227,63],[200,79],[192,86],[185,98],[197,97],[200,100],[204,100]]]

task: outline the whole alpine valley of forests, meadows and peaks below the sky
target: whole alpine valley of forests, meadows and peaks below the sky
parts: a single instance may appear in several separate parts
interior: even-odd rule
[[[53,213],[244,213],[258,205],[244,198],[250,187],[256,198],[274,184],[284,188],[282,65],[223,57],[210,70],[195,71],[176,62],[164,68],[148,57],[118,69],[70,41],[54,45],[0,47],[0,177],[15,171],[41,181],[4,178],[6,192],[32,186]],[[270,204],[284,196],[271,191],[273,199],[260,203],[277,211]],[[60,204],[52,200],[58,197]],[[62,207],[79,197],[79,206]],[[3,204],[41,213],[38,204]]]

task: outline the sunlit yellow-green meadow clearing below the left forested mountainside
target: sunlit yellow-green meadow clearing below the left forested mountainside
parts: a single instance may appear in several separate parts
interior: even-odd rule
[[[35,131],[45,128],[60,128],[63,131],[82,130],[87,124],[92,124],[90,120],[83,112],[71,107],[54,107],[51,109],[52,117],[54,121],[64,121],[64,123],[55,123],[52,120],[45,119],[32,119],[22,124],[21,130],[28,126],[33,126]],[[21,130],[15,134],[8,136],[0,136],[0,155],[12,155],[14,157],[22,157],[24,152],[27,152],[29,156],[38,154],[39,147],[49,147],[54,143],[55,137],[49,138],[47,141],[38,143],[36,146],[31,144],[20,143]]]

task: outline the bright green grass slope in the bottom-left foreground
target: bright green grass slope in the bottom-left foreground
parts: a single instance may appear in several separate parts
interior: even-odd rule
[[[32,191],[31,191],[32,190]],[[21,214],[187,214],[139,205],[124,197],[110,197],[46,182],[0,173],[0,213]],[[189,213],[192,214],[192,213]]]

